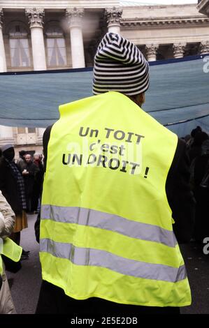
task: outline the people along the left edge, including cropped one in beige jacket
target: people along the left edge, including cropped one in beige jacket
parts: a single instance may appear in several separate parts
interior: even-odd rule
[[[0,149],[0,241],[15,241],[17,245],[10,245],[14,250],[9,256],[7,251],[4,255],[0,249],[0,313],[11,314],[16,311],[5,269],[16,273],[22,267],[21,261],[29,258],[30,251],[18,248],[20,232],[28,227],[27,214],[37,214],[40,211],[43,182],[43,156],[39,153],[32,156],[24,150],[19,154],[20,158],[15,158],[12,144],[6,144]]]

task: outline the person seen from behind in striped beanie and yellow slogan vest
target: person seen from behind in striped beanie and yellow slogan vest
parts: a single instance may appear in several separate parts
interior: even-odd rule
[[[138,47],[106,33],[94,96],[61,105],[45,131],[36,313],[180,313],[191,304],[176,239],[189,241],[194,219],[186,146],[141,109],[148,87]]]

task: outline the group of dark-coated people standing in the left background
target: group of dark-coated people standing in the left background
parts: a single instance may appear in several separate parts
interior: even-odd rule
[[[10,238],[20,245],[20,232],[27,228],[27,214],[36,214],[40,209],[43,163],[41,154],[34,156],[20,151],[15,158],[12,144],[1,148],[0,191],[15,212],[15,226]],[[22,251],[22,260],[29,257],[29,251]],[[10,260],[5,259],[8,262]],[[17,265],[15,266],[17,267]]]

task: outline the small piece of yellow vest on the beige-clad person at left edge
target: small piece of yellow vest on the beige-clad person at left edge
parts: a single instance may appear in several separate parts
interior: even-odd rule
[[[15,244],[15,242],[8,237],[5,239],[0,238],[0,274],[3,273],[1,254],[10,258],[10,260],[18,262],[22,254],[22,247]]]

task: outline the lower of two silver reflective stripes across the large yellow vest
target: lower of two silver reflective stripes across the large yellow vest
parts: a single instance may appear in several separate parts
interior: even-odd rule
[[[68,259],[76,265],[103,267],[136,278],[175,283],[187,277],[185,265],[174,268],[163,264],[129,260],[107,251],[75,247],[72,244],[57,243],[51,239],[40,239],[40,251],[50,253],[56,258]]]

